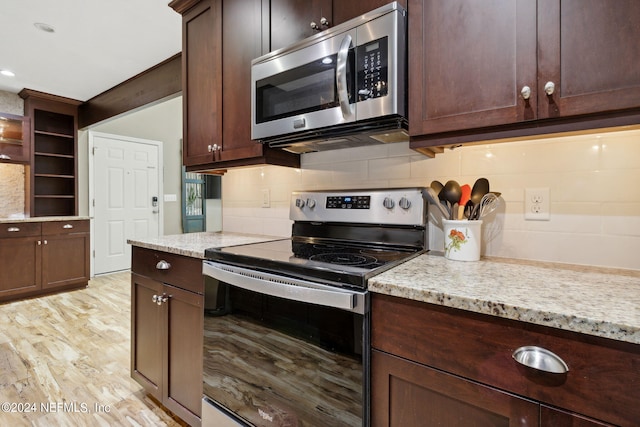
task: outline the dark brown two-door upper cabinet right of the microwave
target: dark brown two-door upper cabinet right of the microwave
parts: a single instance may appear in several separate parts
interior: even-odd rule
[[[409,0],[408,7],[412,148],[430,138],[443,144],[627,124],[620,111],[640,114],[640,2]],[[603,116],[584,119],[594,114]]]

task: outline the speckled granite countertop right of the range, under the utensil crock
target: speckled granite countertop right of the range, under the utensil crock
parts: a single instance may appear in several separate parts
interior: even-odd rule
[[[421,255],[369,291],[640,344],[640,271]]]

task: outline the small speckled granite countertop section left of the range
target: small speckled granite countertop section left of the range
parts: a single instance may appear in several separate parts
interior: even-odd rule
[[[204,259],[204,250],[207,248],[222,248],[225,246],[245,245],[248,243],[268,242],[270,240],[280,239],[283,239],[283,237],[242,233],[202,232],[174,234],[143,240],[129,239],[127,243],[141,248]]]

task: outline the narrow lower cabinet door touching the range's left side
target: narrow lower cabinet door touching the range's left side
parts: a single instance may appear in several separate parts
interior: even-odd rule
[[[165,286],[163,309],[168,335],[164,369],[164,405],[191,425],[202,405],[202,330],[204,296]]]

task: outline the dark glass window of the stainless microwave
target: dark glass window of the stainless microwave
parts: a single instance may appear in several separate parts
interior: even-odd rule
[[[347,90],[353,99],[353,57],[349,51]],[[337,55],[283,71],[256,82],[256,122],[264,123],[339,106],[336,86]]]

